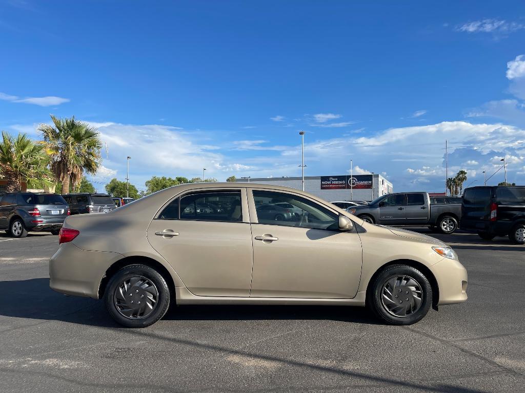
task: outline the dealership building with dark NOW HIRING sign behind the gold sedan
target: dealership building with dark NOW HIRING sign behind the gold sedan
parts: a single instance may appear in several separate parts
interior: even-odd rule
[[[302,190],[302,178],[257,178],[250,182],[283,185]],[[246,181],[237,179],[237,181]],[[359,174],[350,177],[340,176],[305,176],[304,191],[319,196],[327,201],[372,201],[381,195],[393,192],[392,183],[377,173]],[[350,195],[352,194],[352,196]]]

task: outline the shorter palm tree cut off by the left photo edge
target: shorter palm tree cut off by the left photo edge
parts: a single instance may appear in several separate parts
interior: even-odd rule
[[[7,192],[28,188],[44,188],[53,184],[53,173],[48,169],[49,156],[44,146],[18,134],[16,139],[2,132],[0,141],[0,174],[7,180]]]

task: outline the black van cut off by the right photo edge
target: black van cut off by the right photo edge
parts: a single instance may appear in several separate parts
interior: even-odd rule
[[[509,236],[525,244],[525,186],[471,187],[463,193],[460,228],[482,239]]]

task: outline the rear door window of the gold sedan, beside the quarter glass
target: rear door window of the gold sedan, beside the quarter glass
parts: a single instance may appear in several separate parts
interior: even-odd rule
[[[180,199],[181,220],[243,221],[240,191],[198,192]]]

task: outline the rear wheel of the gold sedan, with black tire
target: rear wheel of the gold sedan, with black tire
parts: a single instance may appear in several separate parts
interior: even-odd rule
[[[149,283],[152,284],[153,289],[151,291],[146,291],[142,286],[129,286],[125,292],[125,303],[121,303],[119,308],[117,302],[121,300],[117,299],[117,296],[118,292],[120,292],[119,288],[121,283],[134,279],[144,279],[149,281]],[[135,292],[135,290],[137,292]],[[154,291],[156,291],[156,300],[151,311],[149,311],[148,307],[144,307],[144,305],[141,306],[144,308],[144,313],[148,313],[147,315],[141,316],[140,311],[135,314],[135,316],[125,316],[122,313],[122,310],[124,310],[124,312],[127,311],[125,309],[127,307],[135,308],[135,305],[130,306],[129,303],[133,303],[133,301],[128,300],[128,297],[129,299],[134,299],[135,304],[139,304],[140,301],[148,303],[148,301],[154,299],[154,297],[149,297],[150,294],[154,294]],[[145,298],[144,295],[146,296]],[[120,269],[109,280],[104,296],[106,298],[106,308],[111,317],[127,328],[145,328],[146,326],[150,326],[160,320],[170,307],[170,288],[168,287],[166,280],[164,280],[158,271],[146,265],[129,265]],[[124,296],[122,299],[124,299]]]

